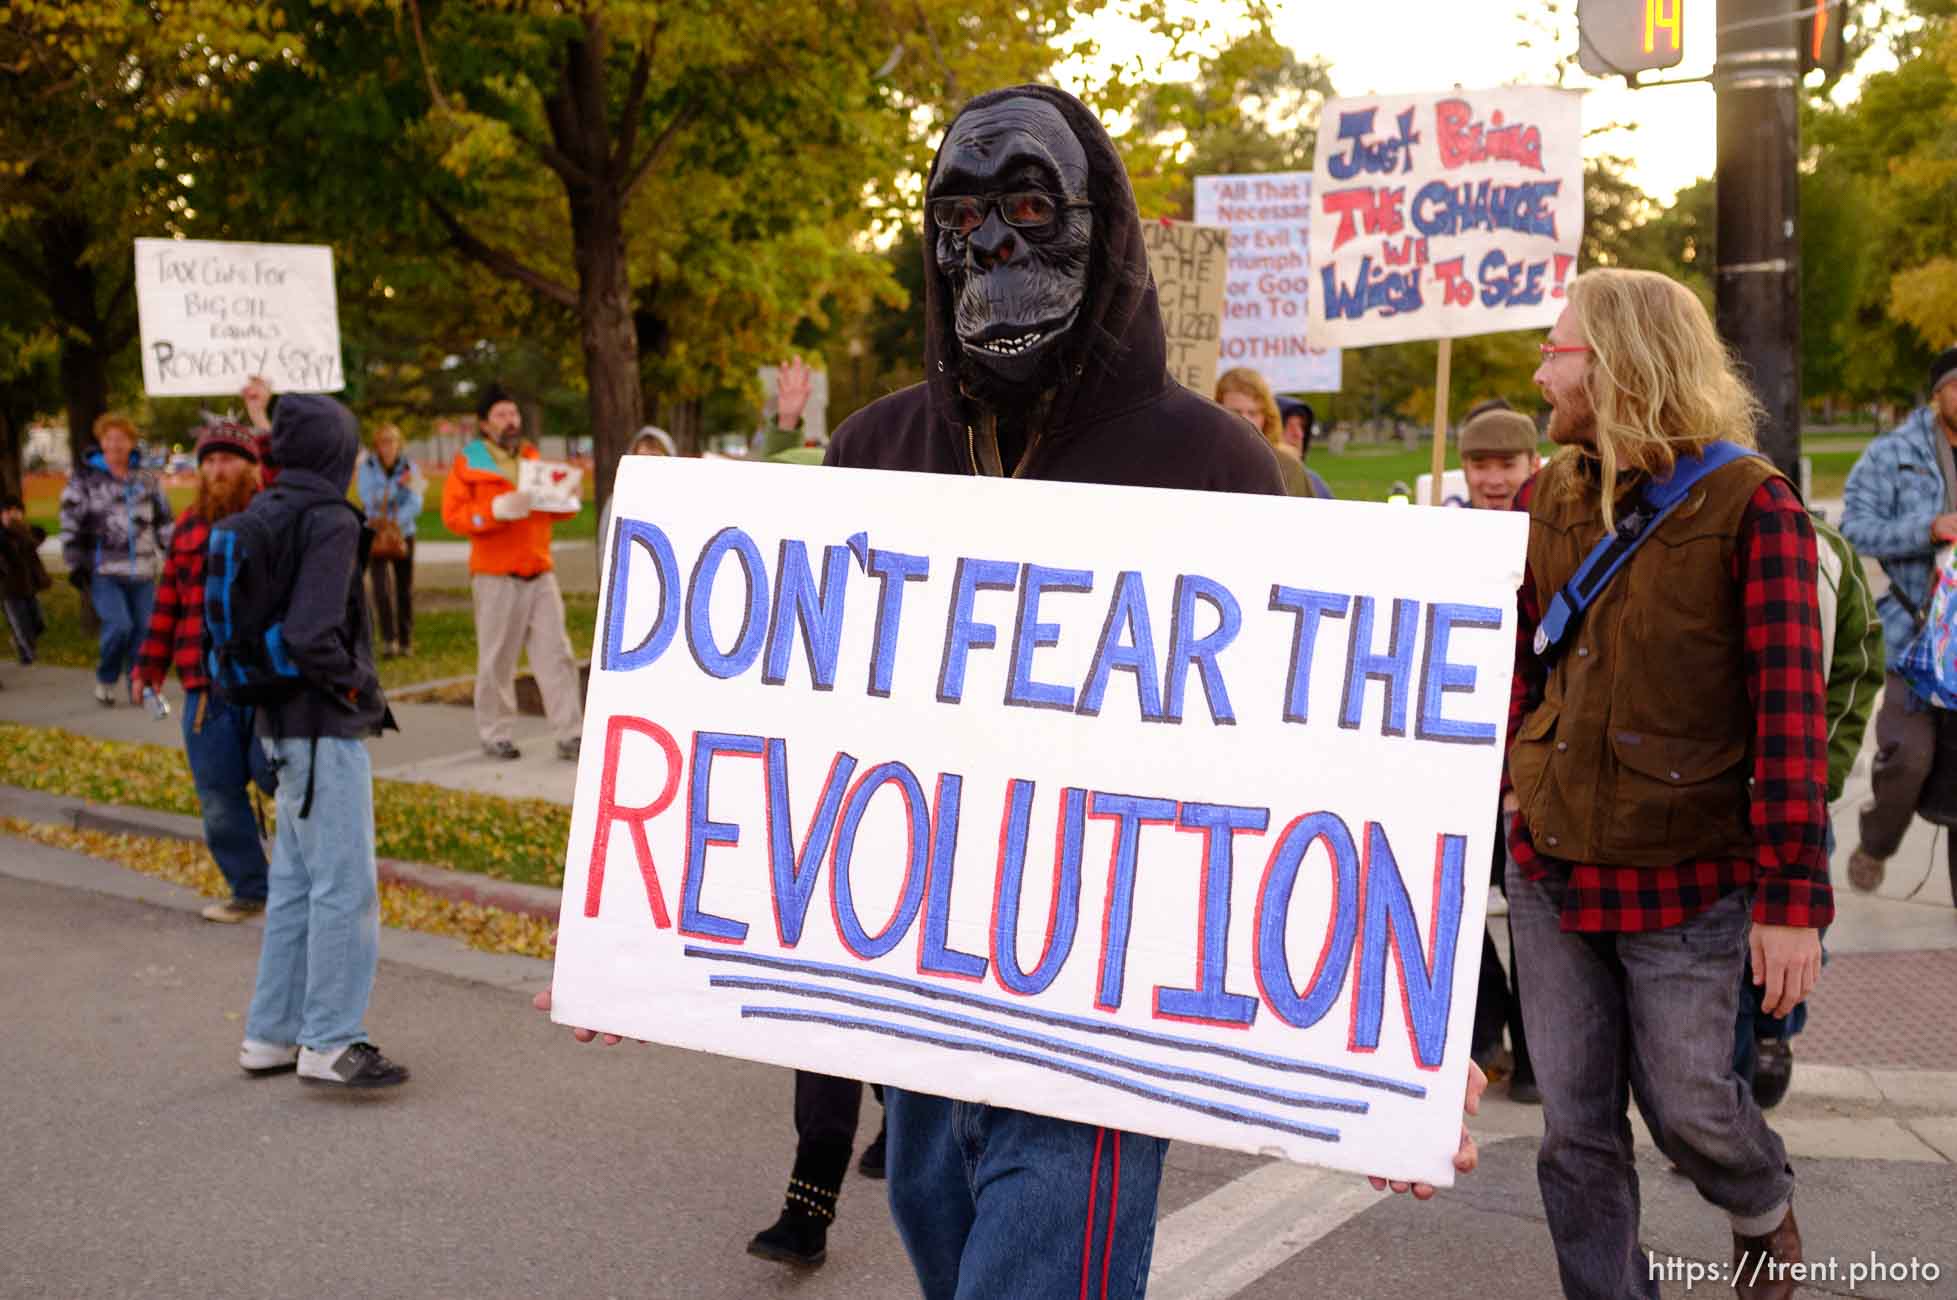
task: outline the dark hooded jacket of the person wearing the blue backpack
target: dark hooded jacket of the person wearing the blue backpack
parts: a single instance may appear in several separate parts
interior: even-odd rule
[[[360,454],[352,411],[315,394],[288,394],[272,417],[278,482],[249,509],[274,511],[296,529],[297,578],[286,607],[286,654],[305,687],[258,711],[258,732],[274,740],[378,736],[393,726],[374,672],[366,599],[360,591],[360,513],[346,486]]]

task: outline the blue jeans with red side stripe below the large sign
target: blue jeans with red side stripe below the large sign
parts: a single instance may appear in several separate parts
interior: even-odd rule
[[[902,1089],[885,1116],[924,1300],[1147,1292],[1164,1139]]]

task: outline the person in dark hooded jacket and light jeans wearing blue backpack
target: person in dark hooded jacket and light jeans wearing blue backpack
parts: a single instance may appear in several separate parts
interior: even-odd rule
[[[333,397],[288,394],[272,415],[270,450],[278,482],[249,509],[268,513],[297,548],[284,644],[303,685],[258,709],[258,736],[278,771],[278,842],[239,1065],[250,1075],[297,1069],[301,1083],[335,1089],[395,1087],[407,1067],[366,1032],[380,961],[366,738],[391,728],[393,713],[374,673],[360,591],[364,529],[346,501],[360,433]]]

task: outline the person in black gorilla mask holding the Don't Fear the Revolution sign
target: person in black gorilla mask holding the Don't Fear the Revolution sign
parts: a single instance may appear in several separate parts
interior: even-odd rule
[[[1264,439],[1168,376],[1127,172],[1072,96],[965,106],[932,166],[924,256],[928,378],[845,419],[826,464],[1284,495]],[[902,1089],[887,1124],[926,1300],[1147,1288],[1166,1141]],[[1456,1165],[1474,1165],[1466,1134]]]

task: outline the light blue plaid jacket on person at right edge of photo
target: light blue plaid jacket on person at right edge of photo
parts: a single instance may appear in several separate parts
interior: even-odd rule
[[[1943,472],[1937,468],[1937,415],[1918,407],[1900,425],[1869,442],[1843,489],[1842,536],[1879,560],[1892,589],[1918,613],[1928,611],[1937,544],[1930,525],[1943,513]],[[1894,595],[1875,603],[1883,615],[1889,668],[1896,670],[1916,638],[1916,621]]]

